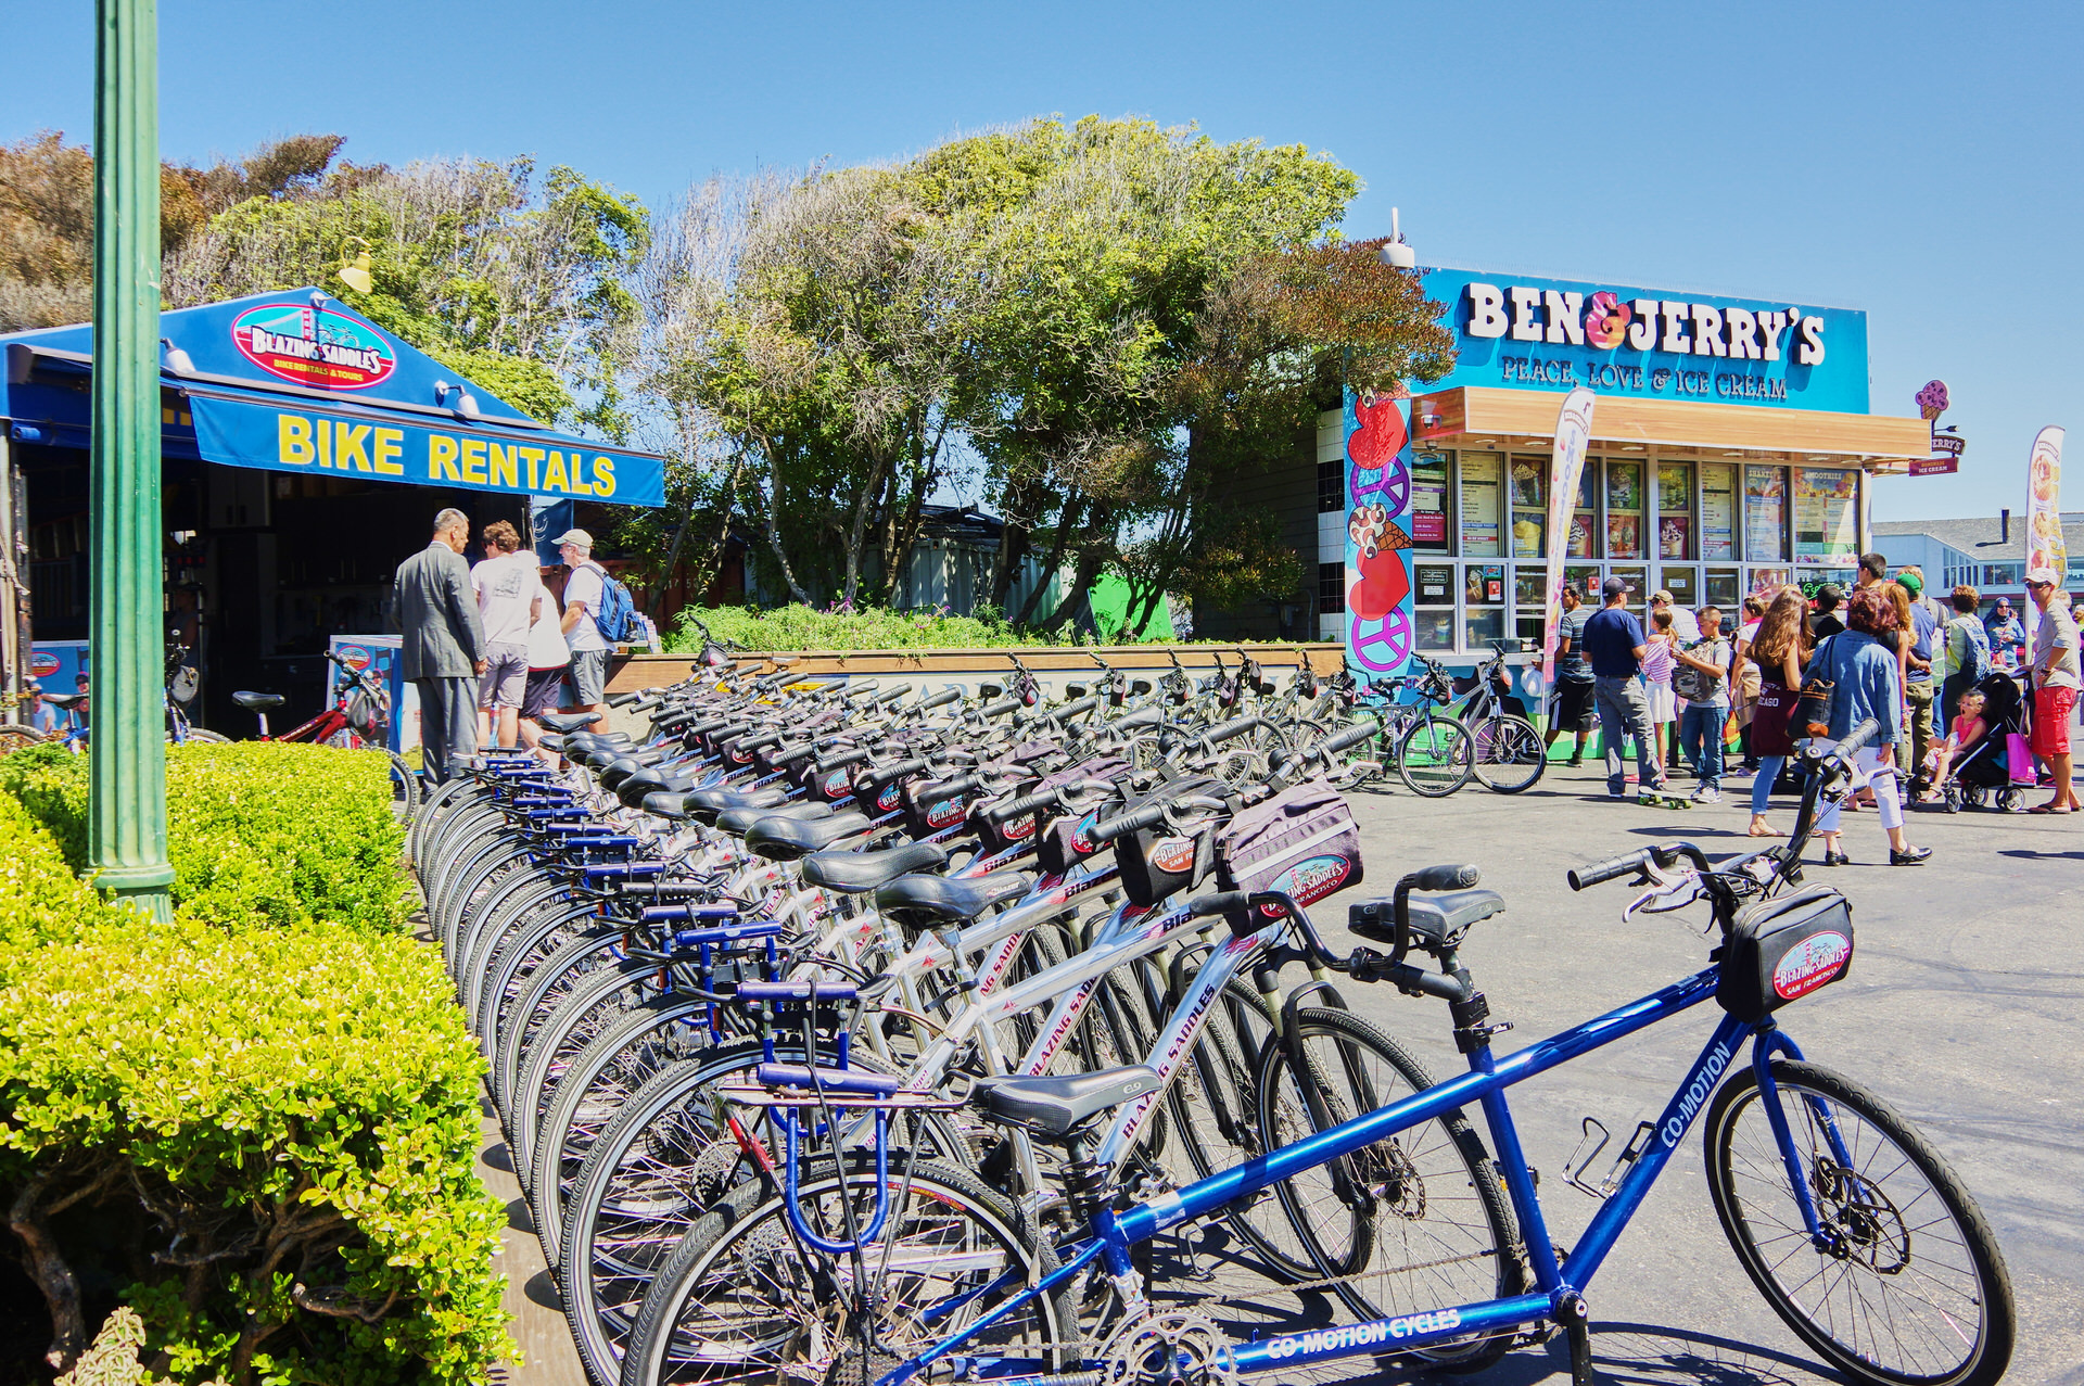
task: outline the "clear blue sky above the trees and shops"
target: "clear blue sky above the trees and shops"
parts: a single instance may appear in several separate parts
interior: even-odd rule
[[[92,4],[10,4],[0,138],[92,133]],[[1300,142],[1421,263],[1865,308],[1874,409],[1953,388],[1959,477],[2024,509],[2044,423],[2084,509],[2074,4],[273,4],[163,0],[163,152],[536,154],[663,202],[713,171],[898,156],[1029,115]]]

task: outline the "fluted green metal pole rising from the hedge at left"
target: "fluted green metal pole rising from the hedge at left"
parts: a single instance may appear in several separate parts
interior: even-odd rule
[[[94,884],[171,919],[158,517],[158,8],[94,6]]]

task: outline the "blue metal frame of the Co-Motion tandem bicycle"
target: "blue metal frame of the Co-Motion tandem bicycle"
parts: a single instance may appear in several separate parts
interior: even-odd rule
[[[1294,1371],[1296,1367],[1309,1367],[1342,1357],[1375,1355],[1386,1351],[1388,1344],[1394,1344],[1394,1351],[1415,1351],[1453,1338],[1467,1338],[1471,1334],[1494,1334],[1538,1323],[1542,1319],[1557,1319],[1561,1317],[1563,1307],[1576,1301],[1578,1294],[1590,1284],[1592,1276],[1607,1259],[1607,1253],[1613,1251],[1621,1230],[1628,1228],[1636,1209],[1642,1207],[1651,1186],[1684,1142],[1694,1119],[1709,1107],[1709,1100],[1721,1086],[1721,1080],[1736,1067],[1738,1050],[1744,1040],[1753,1040],[1753,1071],[1759,1078],[1761,1100],[1765,1103],[1773,1138],[1780,1144],[1782,1159],[1786,1161],[1790,1182],[1796,1190],[1803,1219],[1809,1228],[1809,1236],[1819,1240],[1824,1238],[1824,1230],[1817,1219],[1815,1203],[1809,1196],[1807,1171],[1801,1165],[1786,1113],[1780,1107],[1778,1086],[1773,1084],[1769,1063],[1773,1053],[1801,1059],[1801,1050],[1771,1021],[1765,1025],[1753,1025],[1732,1015],[1723,1015],[1707,1044],[1701,1048],[1701,1055],[1686,1069],[1686,1078],[1680,1088],[1671,1094],[1671,1100],[1657,1117],[1655,1138],[1648,1142],[1642,1157],[1636,1159],[1634,1167],[1615,1192],[1605,1201],[1601,1211],[1592,1217],[1592,1223],[1571,1248],[1569,1257],[1559,1265],[1557,1259],[1546,1253],[1550,1246],[1548,1223],[1542,1215],[1534,1178],[1528,1173],[1528,1163],[1519,1146],[1519,1130],[1513,1123],[1505,1090],[1709,1000],[1715,994],[1719,975],[1719,967],[1709,967],[1686,977],[1684,982],[1619,1007],[1617,1011],[1607,1011],[1605,1015],[1582,1025],[1555,1034],[1546,1040],[1538,1040],[1536,1044],[1515,1050],[1505,1059],[1492,1059],[1488,1046],[1475,1048],[1469,1055],[1469,1071],[1461,1078],[1453,1078],[1444,1084],[1428,1088],[1425,1092],[1417,1092],[1367,1115],[1317,1132],[1296,1144],[1269,1150],[1267,1155],[1209,1175],[1207,1180],[1188,1184],[1175,1192],[1134,1205],[1123,1213],[1100,1209],[1092,1215],[1090,1238],[1059,1248],[1059,1269],[1044,1276],[1038,1284],[1017,1290],[1011,1298],[996,1305],[963,1332],[934,1344],[919,1357],[913,1357],[894,1371],[886,1373],[877,1380],[877,1386],[902,1386],[927,1365],[963,1355],[963,1344],[975,1334],[988,1330],[998,1319],[1017,1313],[1034,1298],[1055,1292],[1059,1286],[1067,1284],[1094,1263],[1098,1263],[1107,1276],[1115,1278],[1117,1284],[1134,1284],[1130,1280],[1134,1273],[1130,1246],[1136,1242],[1146,1242],[1167,1228],[1217,1213],[1236,1198],[1280,1184],[1282,1180],[1307,1169],[1328,1165],[1344,1155],[1353,1155],[1355,1150],[1375,1144],[1378,1140],[1388,1140],[1390,1136],[1432,1121],[1434,1117],[1446,1115],[1448,1111],[1469,1103],[1478,1103],[1484,1109],[1484,1121],[1492,1136],[1492,1153],[1505,1173],[1507,1194],[1511,1196],[1513,1211],[1519,1217],[1521,1238],[1530,1248],[1528,1261],[1534,1269],[1536,1288],[1509,1298],[1478,1301],[1469,1305],[1440,1305],[1434,1309],[1369,1319],[1363,1323],[1319,1328],[1300,1334],[1277,1334],[1248,1344],[1234,1344],[1232,1359],[1236,1369],[1240,1376]],[[1828,1119],[1828,1115],[1824,1115],[1824,1130],[1840,1163],[1851,1163],[1838,1138],[1836,1125]],[[929,1307],[919,1321],[932,1326],[938,1319],[946,1319],[963,1305],[1007,1290],[1013,1286],[1011,1276],[1013,1273],[1009,1271],[1009,1276],[1002,1276],[990,1286],[969,1290],[952,1301]],[[1013,1373],[1000,1376],[990,1369],[992,1363],[986,1363],[984,1371],[986,1376],[992,1376],[998,1386],[1042,1386],[1042,1382],[1050,1376],[1036,1369],[1036,1363],[1011,1361],[1002,1365],[1013,1367]]]

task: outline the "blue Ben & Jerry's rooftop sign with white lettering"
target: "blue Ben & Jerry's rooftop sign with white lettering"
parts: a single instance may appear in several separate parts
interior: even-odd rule
[[[1430,386],[1867,413],[1867,315],[1465,269],[1425,271],[1453,375]]]

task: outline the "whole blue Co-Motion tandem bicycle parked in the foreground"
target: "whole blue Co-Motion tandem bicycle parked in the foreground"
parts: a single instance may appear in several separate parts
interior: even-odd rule
[[[979,1080],[969,1094],[940,1098],[848,1090],[844,1075],[827,1075],[827,1086],[817,1071],[815,1092],[769,1092],[819,1107],[811,1115],[829,1128],[848,1119],[842,1109],[859,1123],[892,1103],[940,1100],[1052,1142],[1065,1153],[1067,1232],[1046,1236],[1032,1209],[963,1169],[890,1150],[792,1150],[779,1173],[742,1184],[700,1217],[631,1307],[623,1384],[1227,1386],[1246,1376],[1296,1380],[1348,1357],[1471,1369],[1555,1330],[1567,1338],[1571,1380],[1588,1384],[1586,1290],[1694,1123],[1738,1261],[1832,1367],[1857,1382],[1996,1382],[2015,1313],[1982,1213],[1892,1107],[1809,1063],[1778,1023],[1782,1007],[1853,961],[1851,907],[1836,890],[1801,888],[1801,850],[1817,805],[1842,794],[1853,750],[1871,736],[1863,723],[1836,748],[1805,752],[1811,786],[1784,846],[1709,861],[1673,842],[1571,871],[1573,890],[1634,877],[1642,892],[1628,915],[1705,900],[1721,944],[1707,969],[1503,1057],[1492,1036],[1505,1025],[1490,1021],[1459,957],[1467,932],[1505,905],[1473,888],[1473,867],[1415,871],[1392,898],[1353,907],[1353,932],[1388,952],[1363,946],[1344,959],[1284,894],[1196,900],[1196,913],[1250,927],[1288,915],[1319,967],[1446,1000],[1469,1071],[1403,1096],[1373,1094],[1365,1065],[1350,1067],[1367,1050],[1365,1025],[1353,1025],[1344,1048],[1325,1050],[1328,1065],[1348,1065],[1344,1078],[1300,1084],[1317,1090],[1298,1107],[1311,1130],[1280,1140],[1269,1130],[1265,1155],[1184,1188],[1113,1188],[1094,1159],[1105,1115],[1159,1084],[1142,1065]],[[1576,1246],[1555,1246],[1507,1088],[1711,998],[1721,1019],[1663,1113],[1596,1184],[1588,1167],[1598,1150],[1573,1157],[1569,1182],[1603,1207]],[[1346,1092],[1350,1115],[1325,1092]],[[1465,1107],[1480,1109],[1494,1161]],[[1190,1303],[1152,1296],[1171,1288],[1150,1278],[1155,1240],[1269,1194],[1311,1248],[1321,1288],[1355,1311],[1350,1321],[1236,1342]]]

